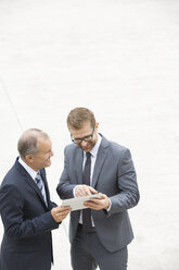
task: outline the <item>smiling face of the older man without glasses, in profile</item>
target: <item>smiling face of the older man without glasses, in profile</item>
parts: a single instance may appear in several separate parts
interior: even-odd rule
[[[30,155],[31,156],[30,167],[35,171],[51,165],[50,158],[53,156],[52,143],[50,138],[38,139],[37,146],[38,146],[38,152],[36,152],[35,155]]]

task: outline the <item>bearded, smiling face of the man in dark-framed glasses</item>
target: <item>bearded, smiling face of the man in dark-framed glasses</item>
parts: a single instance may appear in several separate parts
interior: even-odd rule
[[[90,122],[87,122],[79,130],[69,128],[73,142],[84,151],[91,151],[98,140],[98,125],[97,123],[95,126],[91,126]]]

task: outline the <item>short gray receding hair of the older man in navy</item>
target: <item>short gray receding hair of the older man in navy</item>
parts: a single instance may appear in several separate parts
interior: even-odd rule
[[[49,138],[48,134],[38,128],[29,128],[22,134],[17,143],[17,150],[22,159],[27,155],[38,152],[38,139]]]

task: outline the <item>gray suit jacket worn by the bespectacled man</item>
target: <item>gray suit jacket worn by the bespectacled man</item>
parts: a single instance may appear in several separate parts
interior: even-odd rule
[[[73,188],[82,184],[82,150],[75,144],[65,148],[64,170],[57,185],[62,199],[73,197]],[[92,186],[106,194],[112,207],[106,210],[92,210],[92,218],[101,243],[108,251],[119,250],[133,238],[127,209],[139,201],[136,171],[130,151],[102,136],[95,160]],[[73,242],[80,211],[71,213],[69,241]]]

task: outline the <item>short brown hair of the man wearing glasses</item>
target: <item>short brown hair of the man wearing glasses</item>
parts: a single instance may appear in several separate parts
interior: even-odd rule
[[[79,130],[87,122],[91,124],[91,127],[95,125],[93,112],[84,107],[73,109],[67,116],[68,128]]]

